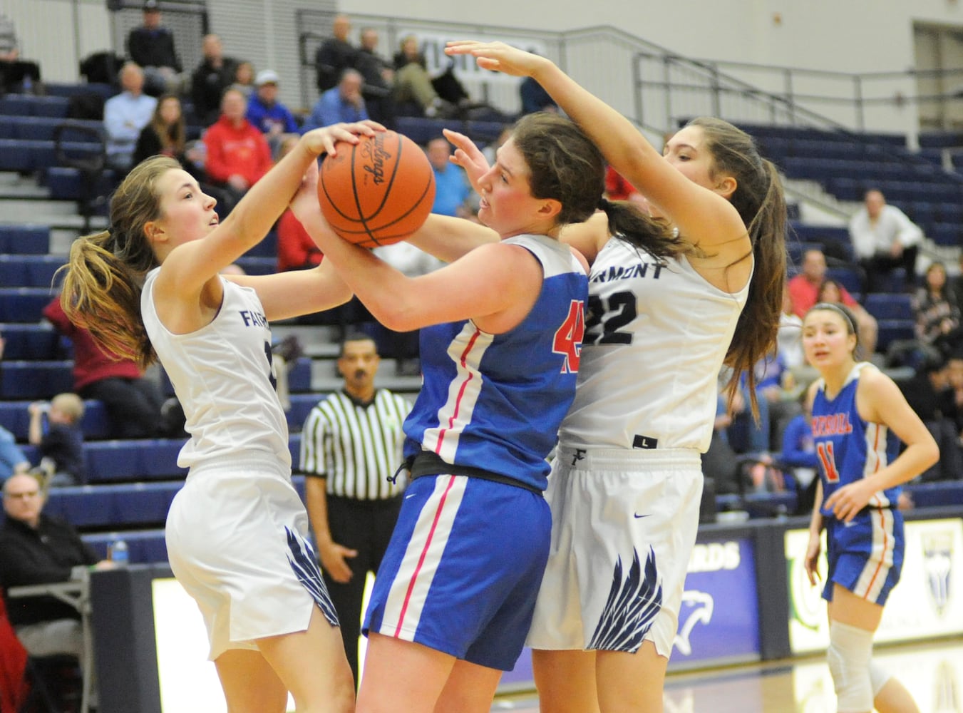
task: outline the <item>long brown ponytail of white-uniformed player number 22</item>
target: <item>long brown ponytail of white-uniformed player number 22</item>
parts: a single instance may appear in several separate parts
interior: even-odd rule
[[[757,413],[753,366],[775,346],[786,283],[786,198],[771,161],[759,154],[752,137],[728,121],[692,119],[702,129],[713,156],[710,176],[731,175],[736,192],[730,198],[748,229],[755,268],[749,294],[736,325],[725,364],[733,369],[726,384],[731,402],[745,372],[753,413]]]

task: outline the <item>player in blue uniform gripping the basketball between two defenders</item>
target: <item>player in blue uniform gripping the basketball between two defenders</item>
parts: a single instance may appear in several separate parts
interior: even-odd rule
[[[404,424],[413,481],[365,622],[358,711],[486,713],[522,649],[550,540],[545,459],[584,330],[587,266],[558,237],[592,215],[604,175],[571,121],[526,117],[477,181],[497,242],[410,278],[319,241],[379,322],[422,329],[425,381]],[[673,250],[663,224],[615,215]]]

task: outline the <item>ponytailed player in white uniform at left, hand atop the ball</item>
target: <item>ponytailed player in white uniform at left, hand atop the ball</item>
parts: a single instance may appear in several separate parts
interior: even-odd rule
[[[111,226],[70,250],[63,302],[104,351],[159,359],[187,416],[190,466],[170,506],[170,566],[203,615],[232,713],[353,710],[337,618],[291,484],[287,423],[273,384],[268,321],[344,303],[333,271],[221,277],[295,198],[309,230],[308,166],[374,125],[305,134],[223,223],[216,200],[168,157],[143,161],[117,188]],[[379,127],[378,127],[379,128]],[[297,194],[297,196],[296,196]]]

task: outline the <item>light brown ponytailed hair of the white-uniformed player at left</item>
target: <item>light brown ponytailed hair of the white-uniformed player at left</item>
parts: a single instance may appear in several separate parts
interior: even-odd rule
[[[134,167],[111,198],[110,227],[77,238],[61,268],[61,304],[70,321],[89,330],[106,354],[142,367],[157,358],[141,319],[143,279],[159,264],[143,228],[161,217],[158,179],[180,168],[169,156]]]

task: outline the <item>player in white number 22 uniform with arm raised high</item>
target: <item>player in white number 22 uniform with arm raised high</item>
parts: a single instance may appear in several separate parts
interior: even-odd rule
[[[782,185],[752,138],[726,121],[691,120],[660,155],[546,58],[502,42],[450,42],[446,51],[534,77],[678,235],[676,251],[654,250],[612,221],[619,201],[562,233],[592,266],[590,316],[549,479],[552,547],[528,638],[542,711],[660,711],[716,378],[731,367],[732,394],[748,371],[754,402],[752,367],[774,346],[786,271]],[[477,147],[448,137],[469,175],[485,168]]]

